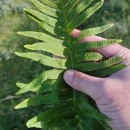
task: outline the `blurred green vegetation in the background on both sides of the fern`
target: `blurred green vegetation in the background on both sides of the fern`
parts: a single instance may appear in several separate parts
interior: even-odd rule
[[[15,96],[15,83],[29,82],[45,69],[40,64],[14,55],[15,51],[26,51],[24,44],[34,42],[33,39],[18,36],[17,31],[42,30],[22,11],[30,6],[26,0],[0,0],[0,130],[27,130],[26,120],[32,113],[38,112],[34,108],[14,110],[14,106],[28,96]],[[130,0],[106,0],[100,11],[84,26],[94,27],[106,23],[115,23],[115,27],[101,36],[121,38],[124,45],[130,47]]]

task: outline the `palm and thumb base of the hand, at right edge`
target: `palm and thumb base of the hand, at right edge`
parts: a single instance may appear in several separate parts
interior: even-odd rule
[[[112,121],[109,123],[113,130],[130,129],[130,51],[125,50],[124,54],[118,56],[125,58],[124,64],[127,67],[106,79],[104,85],[104,96],[97,100],[101,112],[109,116]]]

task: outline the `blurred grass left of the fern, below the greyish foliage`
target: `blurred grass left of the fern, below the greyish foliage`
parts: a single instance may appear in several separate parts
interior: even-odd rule
[[[14,106],[23,99],[15,96],[16,82],[31,81],[43,71],[40,64],[22,60],[14,55],[16,50],[24,50],[25,41],[33,42],[32,39],[23,39],[16,34],[19,30],[34,29],[34,23],[30,23],[24,14],[12,14],[0,19],[0,130],[27,130],[25,120],[31,117],[31,113],[36,112],[35,109],[28,109],[26,112],[14,109]]]

